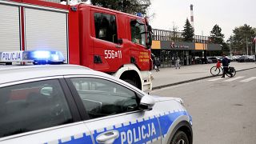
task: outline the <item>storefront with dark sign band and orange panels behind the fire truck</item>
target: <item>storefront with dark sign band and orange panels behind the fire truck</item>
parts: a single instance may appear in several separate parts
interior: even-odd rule
[[[151,52],[160,60],[161,67],[171,67],[175,65],[177,58],[184,66],[199,64],[200,62],[196,62],[195,58],[205,57],[204,54],[211,50],[222,50],[222,48],[218,44],[153,41]]]

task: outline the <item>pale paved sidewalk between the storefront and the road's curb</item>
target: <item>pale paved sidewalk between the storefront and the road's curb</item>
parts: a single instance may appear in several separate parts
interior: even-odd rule
[[[181,66],[181,69],[177,70],[175,67],[160,68],[159,72],[152,70],[153,90],[210,78],[212,77],[210,74],[212,66],[215,66],[215,63]],[[234,66],[237,72],[256,68],[255,62],[231,62],[230,66]]]

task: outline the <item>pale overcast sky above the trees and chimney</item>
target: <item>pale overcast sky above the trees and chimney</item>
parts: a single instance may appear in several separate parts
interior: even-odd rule
[[[256,27],[256,0],[151,0],[150,25],[155,29],[182,31],[190,20],[190,4],[194,5],[195,34],[210,35],[215,24],[222,28],[225,40],[235,27],[245,23]]]

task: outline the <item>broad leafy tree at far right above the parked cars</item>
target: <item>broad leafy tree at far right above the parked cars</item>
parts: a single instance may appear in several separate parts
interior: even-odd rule
[[[255,34],[255,28],[252,28],[247,24],[235,27],[233,35],[231,35],[228,40],[232,45],[232,51],[240,54],[247,54],[247,49],[252,45],[252,38],[254,38]]]

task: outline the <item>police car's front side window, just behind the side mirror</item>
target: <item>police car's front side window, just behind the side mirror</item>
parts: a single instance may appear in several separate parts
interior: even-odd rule
[[[90,118],[138,110],[134,91],[101,78],[71,78]]]

